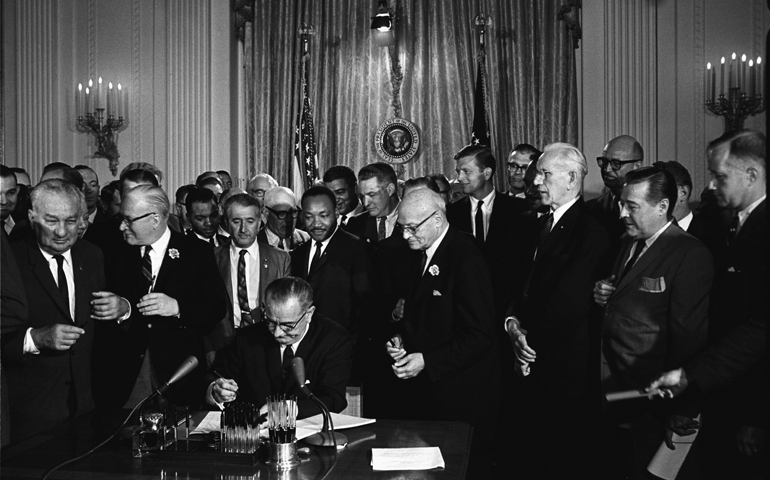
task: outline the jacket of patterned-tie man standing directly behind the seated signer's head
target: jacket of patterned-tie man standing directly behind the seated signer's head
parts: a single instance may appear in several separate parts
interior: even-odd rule
[[[259,300],[264,301],[265,289],[270,282],[277,278],[283,278],[289,275],[291,268],[291,259],[289,254],[283,250],[271,247],[266,243],[258,242],[259,261],[262,268],[259,269]],[[227,310],[225,315],[220,317],[219,322],[214,326],[211,332],[206,335],[205,350],[209,365],[214,361],[216,352],[232,343],[235,337],[235,323],[233,322],[233,283],[230,278],[230,244],[220,245],[214,249],[219,276],[225,284],[227,291]],[[237,292],[236,292],[237,294]],[[254,322],[260,322],[262,319],[262,310],[254,308],[251,311],[251,317]]]

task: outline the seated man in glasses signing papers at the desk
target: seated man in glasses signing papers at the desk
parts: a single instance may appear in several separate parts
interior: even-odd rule
[[[263,321],[238,330],[235,342],[217,357],[206,398],[223,404],[242,400],[265,405],[269,395],[296,395],[298,418],[320,413],[300,391],[291,372],[295,357],[305,363],[313,394],[330,411],[347,406],[350,336],[336,322],[315,312],[313,290],[299,278],[273,281],[265,290]],[[264,407],[263,407],[264,408]]]

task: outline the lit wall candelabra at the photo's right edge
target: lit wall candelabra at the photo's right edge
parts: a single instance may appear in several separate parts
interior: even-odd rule
[[[725,117],[725,132],[740,130],[751,115],[762,113],[765,105],[762,99],[762,57],[746,62],[746,55],[740,62],[735,53],[730,60],[727,83],[725,83],[725,57],[722,57],[719,77],[719,97],[716,96],[716,68],[706,64],[706,108]],[[725,95],[725,87],[727,87]]]

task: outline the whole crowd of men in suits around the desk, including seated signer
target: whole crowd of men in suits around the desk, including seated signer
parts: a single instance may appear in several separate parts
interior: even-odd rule
[[[678,478],[761,478],[765,157],[753,131],[711,142],[694,211],[689,172],[627,135],[592,200],[566,143],[517,145],[505,191],[475,145],[452,181],[335,165],[298,196],[212,171],[173,204],[147,163],[101,189],[0,166],[3,444],[119,417],[189,355],[173,404],[303,398],[300,357],[332,411],[358,386],[365,416],[472,425],[470,478],[652,478],[695,431]]]

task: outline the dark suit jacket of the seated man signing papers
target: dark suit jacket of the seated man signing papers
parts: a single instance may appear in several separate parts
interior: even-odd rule
[[[305,362],[308,387],[326,407],[339,413],[347,406],[345,387],[350,378],[350,336],[336,322],[313,314],[307,334],[294,352]],[[297,396],[298,418],[320,413],[315,404],[301,393],[294,376],[286,381],[281,374],[280,345],[263,323],[238,330],[235,341],[222,350],[213,370],[238,383],[238,398],[264,405],[268,395]],[[205,385],[217,377],[209,374]]]

